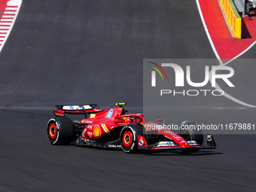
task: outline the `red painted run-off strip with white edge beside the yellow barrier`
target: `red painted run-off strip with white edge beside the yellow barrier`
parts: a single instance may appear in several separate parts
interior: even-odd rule
[[[254,29],[256,17],[251,17],[251,20],[243,18],[242,34],[245,36],[243,39],[233,38],[225,23],[218,0],[198,0],[198,2],[201,17],[203,16],[202,20],[208,30],[206,33],[210,36],[212,48],[216,57],[221,59],[221,64],[227,64],[230,59],[237,58],[254,44],[256,41],[256,30]],[[252,20],[255,21],[252,22]]]

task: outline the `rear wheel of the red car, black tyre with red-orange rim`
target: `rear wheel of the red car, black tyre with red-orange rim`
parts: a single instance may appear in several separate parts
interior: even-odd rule
[[[75,129],[68,117],[55,117],[48,121],[47,138],[52,145],[69,145],[75,139]]]

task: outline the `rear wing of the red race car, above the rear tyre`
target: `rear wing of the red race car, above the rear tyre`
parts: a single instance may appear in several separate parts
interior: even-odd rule
[[[55,105],[58,109],[53,111],[56,117],[65,117],[65,114],[84,114],[87,118],[87,114],[98,113],[103,111],[97,104],[84,104],[84,105]]]

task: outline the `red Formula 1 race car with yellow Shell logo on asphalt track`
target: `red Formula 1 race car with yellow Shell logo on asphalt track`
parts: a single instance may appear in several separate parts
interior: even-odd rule
[[[100,148],[121,148],[126,153],[136,151],[182,150],[194,152],[215,149],[213,136],[207,135],[203,145],[203,133],[198,130],[156,129],[160,120],[145,122],[143,114],[128,114],[123,105],[102,110],[98,105],[56,105],[56,117],[47,123],[47,138],[53,145],[89,145]],[[84,114],[82,120],[72,121],[66,114]],[[182,126],[187,126],[184,121]],[[189,127],[189,126],[187,126]]]

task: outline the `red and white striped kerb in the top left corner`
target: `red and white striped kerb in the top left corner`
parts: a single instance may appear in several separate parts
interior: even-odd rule
[[[0,52],[14,26],[21,3],[22,0],[1,0],[0,2]]]

